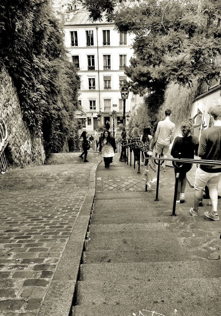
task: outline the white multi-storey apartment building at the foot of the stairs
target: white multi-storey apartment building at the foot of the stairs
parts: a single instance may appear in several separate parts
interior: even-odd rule
[[[117,33],[114,28],[114,23],[90,21],[85,9],[77,10],[64,23],[65,46],[81,76],[79,102],[85,115],[77,116],[81,129],[87,131],[102,131],[106,121],[113,126],[112,111],[116,111],[115,126],[122,129],[123,102],[119,89],[128,80],[124,66],[129,66],[133,55],[133,36]],[[126,100],[126,125],[136,98],[139,96],[129,93]]]

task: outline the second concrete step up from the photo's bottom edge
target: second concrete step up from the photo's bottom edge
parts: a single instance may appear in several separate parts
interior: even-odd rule
[[[201,305],[217,303],[221,295],[219,278],[128,279],[125,281],[79,281],[76,305],[150,304]],[[218,298],[216,300],[216,298]],[[156,305],[156,306],[157,306]],[[176,307],[175,307],[176,308]]]

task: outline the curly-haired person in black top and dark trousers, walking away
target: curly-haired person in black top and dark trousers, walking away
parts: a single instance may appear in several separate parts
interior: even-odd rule
[[[182,136],[177,136],[174,140],[171,155],[173,158],[183,158],[183,159],[194,159],[194,154],[198,155],[199,140],[197,137],[191,136],[193,131],[193,125],[189,120],[182,122],[181,124],[181,134]],[[179,180],[178,189],[176,194],[176,203],[185,200],[185,188],[187,183],[187,172],[193,167],[192,163],[184,162],[182,167],[179,169],[177,164],[173,161],[175,181],[176,173],[179,170]]]

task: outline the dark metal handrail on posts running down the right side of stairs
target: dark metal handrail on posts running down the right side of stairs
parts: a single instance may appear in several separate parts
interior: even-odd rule
[[[122,145],[122,147],[130,147],[130,167],[131,167],[131,154],[132,154],[132,145],[136,144],[138,148],[142,148],[144,145],[143,143],[124,143]],[[162,165],[162,163],[164,163],[163,158],[159,157],[145,157],[145,154],[148,155],[148,151],[145,150],[143,151],[143,155],[144,155],[144,161],[145,160],[149,160],[152,159],[154,161],[154,163],[158,166],[157,168],[157,186],[156,186],[156,198],[154,201],[159,201],[158,200],[158,191],[159,191],[159,175],[160,175],[160,165]],[[158,162],[157,162],[158,161]],[[221,167],[221,161],[215,161],[215,160],[196,160],[196,159],[183,159],[183,158],[166,158],[166,161],[174,161],[174,163],[176,164],[177,167],[177,173],[176,173],[176,181],[175,181],[175,189],[174,189],[174,199],[173,199],[173,210],[172,210],[172,214],[170,216],[176,216],[176,194],[177,194],[177,189],[178,189],[178,181],[179,181],[179,174],[180,174],[180,168],[182,168],[183,163],[191,163],[191,164],[201,164],[201,165],[206,165],[206,166],[220,166]],[[126,161],[125,161],[126,162]],[[179,164],[177,164],[177,162],[179,162]],[[134,157],[134,169],[135,169],[135,157]],[[140,173],[140,151],[139,151],[139,158],[138,158],[138,172]],[[145,191],[147,191],[147,184],[146,184],[146,189]]]

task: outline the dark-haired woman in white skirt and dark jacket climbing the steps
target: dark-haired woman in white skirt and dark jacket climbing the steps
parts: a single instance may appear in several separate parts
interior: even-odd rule
[[[99,138],[99,154],[104,158],[105,168],[109,168],[112,163],[115,150],[115,138],[108,130],[105,130],[103,136]]]

